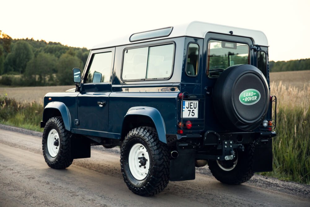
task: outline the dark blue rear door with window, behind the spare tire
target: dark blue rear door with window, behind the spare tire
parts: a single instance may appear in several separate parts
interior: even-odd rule
[[[206,94],[206,130],[223,130],[216,120],[212,103],[212,92],[216,80],[223,70],[232,65],[254,65],[253,41],[247,37],[207,33],[203,42],[203,68],[201,93]],[[221,120],[218,120],[221,121]]]

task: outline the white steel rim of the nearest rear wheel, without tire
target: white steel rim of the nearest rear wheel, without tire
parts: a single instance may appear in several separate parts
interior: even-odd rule
[[[150,169],[150,158],[143,144],[135,144],[131,147],[128,156],[129,169],[132,176],[137,180],[143,180]]]

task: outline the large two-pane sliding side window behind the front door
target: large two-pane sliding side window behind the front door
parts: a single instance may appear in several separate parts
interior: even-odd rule
[[[173,57],[174,44],[126,49],[122,80],[168,79]]]

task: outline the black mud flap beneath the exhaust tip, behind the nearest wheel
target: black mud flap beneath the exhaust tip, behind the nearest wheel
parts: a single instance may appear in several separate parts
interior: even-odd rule
[[[170,160],[170,181],[195,179],[195,149],[180,149],[179,156]]]

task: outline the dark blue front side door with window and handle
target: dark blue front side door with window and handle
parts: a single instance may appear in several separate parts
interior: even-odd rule
[[[91,51],[78,94],[79,129],[108,132],[109,94],[115,48]]]

